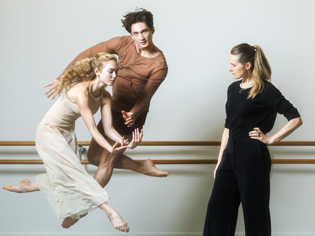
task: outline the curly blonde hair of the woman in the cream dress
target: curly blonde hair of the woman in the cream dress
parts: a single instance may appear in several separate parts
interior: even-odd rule
[[[63,88],[67,89],[78,83],[93,80],[96,76],[94,69],[97,68],[101,71],[109,61],[118,63],[114,55],[106,52],[98,53],[93,58],[77,61],[74,67],[68,68],[60,76],[61,79],[56,89],[56,94],[61,94]]]

